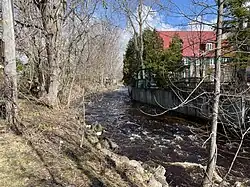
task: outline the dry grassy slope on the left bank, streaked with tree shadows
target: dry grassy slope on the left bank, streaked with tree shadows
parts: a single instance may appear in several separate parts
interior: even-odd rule
[[[75,116],[20,101],[22,135],[0,134],[0,186],[130,186],[88,141],[80,148]]]

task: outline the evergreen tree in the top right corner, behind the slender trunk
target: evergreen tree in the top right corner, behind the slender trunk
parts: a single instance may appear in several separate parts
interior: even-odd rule
[[[225,6],[224,32],[229,34],[233,48],[233,66],[236,66],[239,82],[246,81],[245,69],[250,65],[250,11],[249,0],[228,0]],[[245,81],[243,81],[245,80]]]

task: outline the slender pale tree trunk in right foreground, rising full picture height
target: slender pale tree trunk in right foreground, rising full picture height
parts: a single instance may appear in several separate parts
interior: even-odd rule
[[[220,101],[220,77],[221,77],[221,42],[222,42],[222,21],[223,21],[223,4],[224,0],[218,0],[218,15],[217,15],[217,46],[216,46],[216,64],[215,64],[215,91],[214,91],[214,104],[213,104],[213,119],[211,129],[211,140],[209,150],[209,160],[207,170],[203,181],[203,187],[212,186],[213,173],[216,166],[217,157],[217,125],[219,115],[219,101]]]

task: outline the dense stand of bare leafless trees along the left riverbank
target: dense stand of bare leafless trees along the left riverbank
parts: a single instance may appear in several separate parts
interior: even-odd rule
[[[119,28],[104,17],[95,17],[99,3],[15,2],[18,52],[29,62],[24,82],[31,82],[29,89],[38,84],[37,95],[48,105],[56,105],[57,97],[70,105],[77,87],[98,88],[116,74],[112,67],[121,61],[117,58],[120,49],[114,47],[119,43]]]

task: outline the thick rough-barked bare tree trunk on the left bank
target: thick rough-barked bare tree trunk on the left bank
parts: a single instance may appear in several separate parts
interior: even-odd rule
[[[37,3],[37,7],[41,12],[42,24],[45,30],[45,42],[47,52],[47,62],[49,66],[49,81],[47,82],[48,94],[45,102],[49,106],[58,104],[58,91],[60,86],[60,42],[61,42],[61,27],[63,18],[63,2],[45,1]]]

